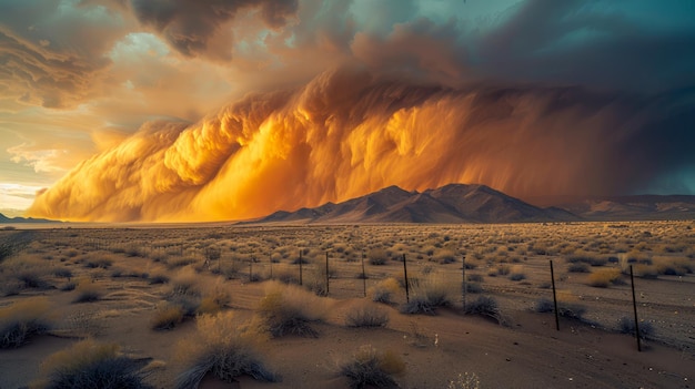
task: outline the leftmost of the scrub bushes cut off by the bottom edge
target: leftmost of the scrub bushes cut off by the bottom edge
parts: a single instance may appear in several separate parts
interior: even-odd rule
[[[119,352],[118,345],[87,339],[49,356],[42,365],[46,389],[123,388],[149,389],[141,371],[143,361]]]

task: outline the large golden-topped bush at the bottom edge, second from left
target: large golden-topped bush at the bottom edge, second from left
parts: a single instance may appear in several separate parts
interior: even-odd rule
[[[259,326],[236,320],[231,311],[200,316],[195,326],[195,335],[177,347],[177,359],[184,367],[177,388],[198,388],[208,373],[229,383],[242,375],[260,381],[280,380],[261,356],[268,334]]]

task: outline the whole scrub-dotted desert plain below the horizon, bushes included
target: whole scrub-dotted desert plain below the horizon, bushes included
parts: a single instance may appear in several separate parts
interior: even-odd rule
[[[4,228],[0,388],[51,387],[56,369],[99,347],[153,388],[691,388],[694,228]],[[282,315],[293,321],[279,325]],[[195,376],[220,347],[264,373]],[[349,373],[369,358],[381,383]]]

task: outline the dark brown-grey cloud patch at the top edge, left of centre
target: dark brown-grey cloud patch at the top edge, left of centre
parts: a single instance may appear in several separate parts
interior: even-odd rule
[[[231,31],[221,31],[242,9],[258,9],[270,28],[286,23],[298,9],[298,0],[132,0],[140,22],[151,25],[167,42],[187,57],[229,60]],[[212,45],[220,40],[224,48]]]

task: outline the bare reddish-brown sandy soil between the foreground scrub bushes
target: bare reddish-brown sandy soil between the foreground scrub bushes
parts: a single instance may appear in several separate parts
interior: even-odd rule
[[[105,231],[82,235],[102,234],[104,239],[110,239],[107,237],[109,234],[131,233]],[[68,243],[56,248],[54,242],[61,240],[60,234],[63,233],[52,234],[51,239],[44,238],[42,244],[46,247],[42,246],[43,249],[39,252],[46,254],[54,250],[52,263],[58,263],[59,250],[64,253],[79,245]],[[56,234],[59,234],[58,237]],[[192,235],[190,232],[181,234]],[[253,233],[244,229],[243,234]],[[124,238],[128,239],[127,236]],[[85,239],[80,245],[93,242]],[[84,253],[105,256],[111,255],[109,249],[94,246],[92,252],[84,249]],[[151,252],[149,256],[133,257],[119,253],[115,257],[110,256],[115,258],[111,268],[138,267],[147,268],[151,274],[161,270],[170,275],[178,270],[160,267],[161,263],[153,262],[152,256]],[[153,364],[148,381],[157,388],[171,388],[181,371],[181,367],[172,360],[175,345],[179,339],[195,331],[195,324],[194,319],[188,319],[172,330],[155,331],[150,328],[155,305],[167,298],[168,285],[150,285],[143,277],[112,277],[108,270],[87,269],[83,262],[73,260],[70,256],[60,266],[73,269],[75,277],[101,270],[94,283],[104,290],[103,298],[95,303],[72,304],[77,290],[61,291],[50,287],[22,289],[18,295],[0,298],[2,307],[33,296],[46,296],[51,303],[50,315],[58,324],[58,328],[50,335],[34,337],[28,345],[17,349],[0,350],[0,388],[22,388],[37,379],[41,375],[41,361],[47,356],[79,340],[71,335],[75,332],[75,317],[84,316],[90,317],[87,320],[89,330],[98,340],[115,342],[125,354],[135,358],[151,359]],[[319,337],[285,336],[271,339],[264,350],[269,365],[282,375],[281,382],[263,383],[250,377],[241,377],[239,382],[228,385],[207,378],[201,387],[348,388],[348,380],[338,373],[339,365],[362,345],[391,350],[403,358],[405,371],[395,376],[402,388],[446,388],[451,380],[463,372],[476,373],[483,388],[693,387],[695,305],[692,299],[695,296],[695,277],[692,274],[638,279],[639,313],[655,324],[658,336],[645,341],[643,351],[637,352],[634,337],[611,328],[616,318],[632,313],[628,285],[593,288],[584,283],[587,275],[558,272],[558,278],[565,277],[562,287],[572,289],[577,301],[586,304],[588,309],[585,321],[561,318],[561,329],[556,330],[552,314],[538,314],[531,309],[540,296],[551,296],[550,289],[538,287],[546,281],[544,269],[548,258],[530,258],[524,263],[527,278],[523,284],[512,283],[504,277],[486,277],[482,283],[484,294],[500,301],[507,320],[505,326],[486,318],[463,315],[456,308],[461,303],[457,300],[452,308],[437,309],[435,316],[403,315],[397,306],[383,306],[390,316],[385,328],[350,328],[345,326],[345,315],[362,300],[362,280],[354,276],[341,277],[339,272],[332,280],[328,297],[331,304],[329,317],[325,323],[315,325]],[[414,260],[409,272],[417,274],[426,264],[426,260]],[[400,263],[390,263],[379,268],[370,267],[370,272],[397,275],[401,266]],[[447,281],[455,283],[461,278],[461,263],[436,266],[437,272],[450,274],[451,279],[444,278]],[[486,274],[487,269],[481,266],[471,269],[470,274],[476,272]],[[198,276],[201,284],[212,284],[220,278],[208,270]],[[251,318],[264,295],[264,285],[250,284],[242,278],[240,276],[224,281],[231,291],[231,301],[224,309]],[[63,281],[58,278],[50,280],[53,285]],[[369,283],[375,280],[370,279]],[[476,297],[467,296],[470,299]],[[403,296],[399,296],[396,303],[401,300]]]

